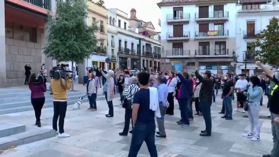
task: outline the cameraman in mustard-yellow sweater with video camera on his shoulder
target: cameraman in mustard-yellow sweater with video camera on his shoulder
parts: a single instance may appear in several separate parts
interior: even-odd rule
[[[51,92],[53,93],[53,121],[52,126],[53,130],[56,132],[57,129],[57,120],[59,117],[59,134],[58,137],[70,137],[69,134],[64,132],[64,118],[66,116],[67,110],[67,93],[66,90],[70,90],[72,86],[72,72],[66,71],[64,68],[66,66],[64,64],[61,65],[61,68],[53,67],[50,70],[50,85]]]

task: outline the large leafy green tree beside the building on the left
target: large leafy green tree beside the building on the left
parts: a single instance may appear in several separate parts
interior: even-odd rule
[[[58,1],[58,12],[49,18],[49,35],[44,53],[58,62],[83,63],[96,49],[98,27],[87,26],[84,1]],[[72,88],[73,90],[73,88]]]

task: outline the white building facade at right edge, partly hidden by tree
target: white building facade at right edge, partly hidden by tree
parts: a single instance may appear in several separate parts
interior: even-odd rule
[[[256,70],[255,55],[247,54],[248,49],[253,49],[250,43],[255,42],[258,33],[260,33],[269,24],[272,17],[279,18],[279,2],[277,0],[270,1],[240,1],[236,6],[237,9],[237,29],[236,29],[236,48],[237,48],[237,64],[236,73],[245,73],[248,76],[258,75],[261,69]],[[271,66],[265,65],[271,69]]]

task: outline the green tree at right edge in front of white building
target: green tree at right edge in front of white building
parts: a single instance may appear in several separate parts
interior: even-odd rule
[[[248,53],[255,53],[264,63],[279,65],[279,20],[273,17],[251,46],[260,50],[250,50]]]

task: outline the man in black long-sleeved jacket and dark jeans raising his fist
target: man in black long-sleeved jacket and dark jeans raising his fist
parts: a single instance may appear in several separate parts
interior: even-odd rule
[[[200,136],[211,136],[211,112],[210,107],[212,104],[212,91],[213,91],[213,81],[211,80],[211,72],[206,70],[203,73],[203,77],[199,74],[198,68],[195,69],[196,77],[202,82],[201,90],[199,92],[200,107],[202,109],[203,118],[205,119],[204,131],[201,131]]]

